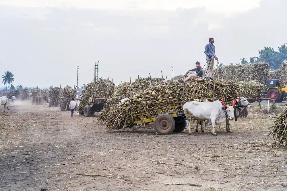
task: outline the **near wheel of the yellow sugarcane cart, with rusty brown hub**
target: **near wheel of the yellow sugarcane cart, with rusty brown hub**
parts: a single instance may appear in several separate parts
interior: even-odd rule
[[[165,126],[165,127],[164,127]],[[174,131],[175,129],[175,121],[171,115],[164,113],[158,115],[156,120],[154,121],[154,127],[156,132],[160,135],[167,135]]]

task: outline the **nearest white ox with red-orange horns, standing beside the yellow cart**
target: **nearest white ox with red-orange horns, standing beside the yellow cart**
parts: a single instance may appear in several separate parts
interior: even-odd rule
[[[197,119],[200,121],[210,120],[212,129],[211,133],[215,133],[215,124],[221,123],[226,119],[234,119],[234,108],[236,101],[232,106],[224,104],[222,99],[222,104],[219,100],[213,102],[198,102],[191,101],[183,105],[183,111],[187,119],[187,131],[191,134],[190,122],[192,119]],[[222,106],[223,105],[223,106]]]

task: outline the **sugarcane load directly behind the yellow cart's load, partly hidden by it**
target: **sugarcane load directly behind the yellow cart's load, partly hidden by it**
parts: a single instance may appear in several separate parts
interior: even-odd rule
[[[163,78],[137,78],[134,82],[122,82],[115,87],[115,92],[108,97],[105,101],[105,108],[102,110],[99,116],[99,120],[105,118],[108,115],[108,111],[113,105],[118,104],[119,101],[126,97],[131,97],[132,95],[147,89],[150,86],[157,86],[165,82]]]

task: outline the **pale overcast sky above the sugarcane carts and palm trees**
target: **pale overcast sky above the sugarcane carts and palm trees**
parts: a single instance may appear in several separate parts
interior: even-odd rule
[[[215,3],[216,2],[216,3]],[[0,65],[15,86],[79,86],[99,77],[184,74],[206,62],[208,38],[225,65],[287,42],[284,0],[0,0]],[[0,85],[1,87],[1,85]]]

